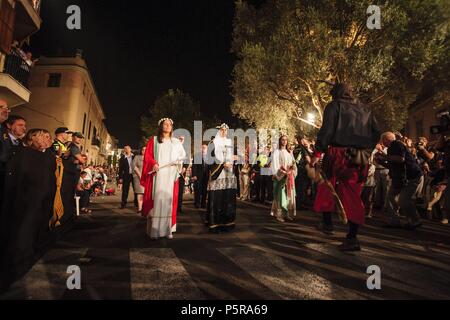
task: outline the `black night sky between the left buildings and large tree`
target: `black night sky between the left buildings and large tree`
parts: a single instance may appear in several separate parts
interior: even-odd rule
[[[81,30],[66,28],[72,4],[81,8]],[[170,88],[190,94],[205,117],[231,118],[234,0],[43,0],[41,16],[31,51],[83,50],[120,145],[137,146],[141,115]]]

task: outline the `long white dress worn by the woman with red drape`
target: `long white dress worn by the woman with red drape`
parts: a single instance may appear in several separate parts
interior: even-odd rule
[[[158,148],[157,161],[160,168],[174,161],[181,163],[161,168],[156,174],[153,186],[154,206],[148,216],[147,234],[151,238],[161,238],[171,236],[177,228],[176,224],[172,226],[173,188],[182,167],[182,160],[186,158],[186,152],[180,140],[175,138],[166,139],[155,147]]]

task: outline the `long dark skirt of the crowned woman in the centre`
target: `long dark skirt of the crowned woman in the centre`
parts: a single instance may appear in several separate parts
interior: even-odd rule
[[[210,231],[230,231],[235,227],[236,189],[209,191],[206,222]]]

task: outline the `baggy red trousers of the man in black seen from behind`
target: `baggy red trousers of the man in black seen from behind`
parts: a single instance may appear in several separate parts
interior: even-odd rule
[[[347,219],[362,225],[365,220],[365,210],[361,200],[361,191],[367,177],[367,167],[351,166],[345,156],[346,149],[329,147],[324,158],[323,171],[341,199]],[[317,187],[314,211],[319,213],[336,212],[333,195],[324,184]]]

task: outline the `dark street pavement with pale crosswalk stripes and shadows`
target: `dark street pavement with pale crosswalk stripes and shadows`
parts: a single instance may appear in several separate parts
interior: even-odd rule
[[[0,299],[450,298],[450,227],[438,223],[386,230],[376,216],[361,229],[363,250],[341,253],[345,226],[324,236],[312,212],[280,224],[268,206],[238,202],[236,230],[212,235],[189,198],[175,238],[152,241],[134,208],[94,201],[93,214]],[[66,287],[70,265],[81,269],[81,290]],[[370,265],[381,268],[381,290],[367,288]]]

